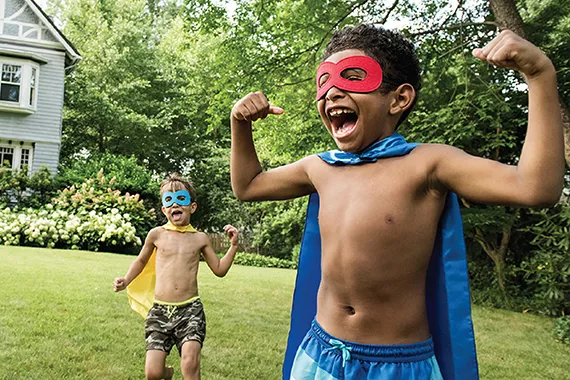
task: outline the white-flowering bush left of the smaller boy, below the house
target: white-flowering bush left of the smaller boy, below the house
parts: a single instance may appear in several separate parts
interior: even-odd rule
[[[121,195],[101,171],[96,179],[64,189],[41,209],[6,208],[0,243],[49,248],[130,252],[156,224],[138,194]]]

